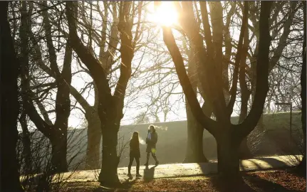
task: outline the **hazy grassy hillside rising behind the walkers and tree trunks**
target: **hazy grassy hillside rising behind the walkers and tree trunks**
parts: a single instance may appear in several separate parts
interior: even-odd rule
[[[289,144],[289,113],[279,114],[264,114],[264,130],[265,137],[249,138],[249,143],[253,146],[253,152],[256,155],[278,154],[287,151],[293,151],[296,146]],[[238,117],[232,117],[231,122],[236,124]],[[123,145],[129,142],[132,132],[140,133],[140,139],[145,140],[147,136],[147,128],[150,124],[133,124],[123,125],[120,127],[118,134],[118,148],[123,149],[123,154],[120,159],[119,167],[128,166],[128,148],[123,148]],[[184,160],[187,146],[187,121],[175,122],[160,122],[155,123],[157,127],[158,142],[157,142],[157,158],[160,164],[181,163]],[[86,129],[69,129],[68,134],[68,161],[73,158],[71,164],[78,164],[83,161],[87,144]],[[292,114],[292,132],[296,141],[301,137],[301,113],[293,112]],[[41,133],[37,133],[41,135]],[[254,139],[254,140],[253,140]],[[276,142],[281,146],[276,148]],[[207,130],[204,130],[204,154],[207,159],[217,159],[217,144]],[[283,149],[283,146],[286,147]],[[141,164],[145,163],[145,144],[140,144]],[[290,148],[289,148],[290,147]],[[289,149],[288,149],[289,148]],[[286,150],[286,151],[285,151]],[[295,150],[294,150],[295,151]],[[76,156],[76,157],[75,157]],[[153,159],[150,160],[153,163]],[[80,165],[80,169],[84,164]]]

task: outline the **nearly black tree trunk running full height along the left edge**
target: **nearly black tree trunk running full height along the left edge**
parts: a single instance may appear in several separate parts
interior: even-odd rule
[[[8,1],[0,2],[1,34],[1,191],[24,191],[19,181],[16,158],[19,115],[18,82],[19,62],[11,38],[7,18]],[[4,155],[5,154],[5,155]]]

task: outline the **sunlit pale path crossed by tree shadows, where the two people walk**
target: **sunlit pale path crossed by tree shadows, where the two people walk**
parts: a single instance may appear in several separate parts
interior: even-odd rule
[[[263,169],[279,169],[286,166],[295,166],[302,156],[264,156],[255,159],[246,159],[240,161],[241,171],[257,171]],[[97,181],[100,170],[75,171],[63,175],[62,181],[66,182],[87,182]],[[118,168],[118,177],[120,181],[127,181],[128,168]],[[179,176],[197,176],[217,173],[217,162],[201,164],[160,164],[158,166],[150,165],[146,169],[140,166],[140,174],[144,180],[153,178],[167,178]],[[131,174],[135,178],[135,166],[131,168]]]

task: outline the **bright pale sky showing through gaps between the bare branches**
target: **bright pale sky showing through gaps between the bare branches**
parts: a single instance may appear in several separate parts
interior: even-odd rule
[[[102,3],[102,2],[100,2]],[[149,11],[149,14],[147,15],[147,21],[152,22],[150,25],[152,26],[152,31],[155,31],[156,33],[159,33],[157,38],[155,39],[154,43],[157,43],[161,46],[158,47],[159,50],[167,50],[167,48],[165,47],[165,44],[163,42],[163,38],[162,38],[162,31],[161,31],[161,25],[166,25],[166,26],[171,26],[171,25],[177,25],[177,13],[175,11],[175,8],[171,5],[172,2],[171,1],[165,1],[163,2],[162,6],[157,9],[157,13],[154,13],[154,9],[153,9],[153,2],[151,2],[149,4],[149,6],[147,7],[147,11]],[[95,14],[93,14],[93,16],[95,16]],[[97,16],[97,15],[96,15]],[[95,23],[94,23],[95,24]],[[175,35],[175,37],[179,37],[179,33],[175,30],[173,30],[173,33]],[[236,40],[239,39],[239,33],[238,33],[238,28],[233,28],[231,36],[233,38],[235,38]],[[180,42],[177,41],[177,43],[179,44]],[[120,45],[118,45],[119,47]],[[155,45],[149,45],[149,46],[155,46]],[[132,68],[136,68],[137,65],[139,63],[140,64],[140,69],[141,70],[147,70],[149,68],[151,68],[153,65],[155,65],[157,63],[157,56],[153,56],[150,53],[145,53],[144,57],[142,57],[142,51],[145,50],[144,48],[141,48],[140,50],[138,50],[135,53],[135,56],[132,60]],[[95,48],[95,52],[98,54],[99,50],[98,48]],[[76,53],[75,53],[76,55]],[[62,63],[63,60],[61,60],[61,58],[63,58],[63,55],[58,55],[58,63]],[[140,61],[142,58],[142,61]],[[160,58],[161,60],[165,59],[165,58]],[[166,63],[166,65],[164,65],[164,67],[170,67],[173,68],[175,65],[172,63],[172,60],[169,61],[169,63]],[[73,59],[73,63],[72,63],[72,72],[76,72],[80,70],[80,67],[78,67],[78,65],[76,64],[76,59]],[[162,69],[161,72],[167,72],[167,69]],[[132,70],[132,73],[134,72],[134,70]],[[155,73],[158,73],[158,71],[156,70]],[[229,71],[230,73],[230,71]],[[150,73],[149,73],[150,74]],[[116,75],[119,75],[119,72],[116,73]],[[127,93],[129,95],[129,93],[131,92],[132,88],[135,88],[137,86],[143,85],[145,83],[145,80],[152,80],[154,81],[155,79],[151,79],[152,78],[152,73],[148,76],[148,77],[138,77],[138,78],[131,78],[128,84],[128,89],[127,89]],[[157,74],[155,74],[155,78]],[[72,85],[73,87],[75,87],[77,90],[81,90],[84,86],[86,82],[90,82],[91,78],[89,75],[87,75],[86,73],[79,73],[77,75],[73,76],[72,79]],[[162,89],[162,92],[167,92],[167,89],[170,89],[170,86],[172,85],[171,82],[176,82],[177,81],[177,75],[169,75],[169,77],[167,77],[166,80],[164,80],[165,82],[157,84],[153,87],[149,87],[146,88],[145,90],[139,90],[139,92],[132,94],[131,96],[125,97],[125,108],[123,110],[124,112],[124,117],[122,119],[122,124],[132,124],[132,122],[134,122],[133,117],[137,116],[137,114],[140,114],[140,112],[144,112],[145,110],[147,110],[147,107],[145,107],[145,105],[150,105],[150,92],[156,94],[160,89]],[[170,85],[167,85],[170,84]],[[172,92],[182,92],[182,87],[181,85],[177,86],[175,88],[175,90],[172,90]],[[83,94],[83,96],[87,97],[86,100],[89,102],[90,105],[93,105],[93,101],[94,101],[94,93],[93,90],[88,92],[85,91],[85,93]],[[55,94],[52,94],[51,97],[55,97]],[[183,95],[182,94],[174,94],[170,96],[170,102],[172,103],[172,108],[171,111],[169,112],[169,114],[167,115],[167,121],[175,121],[175,120],[184,120],[186,119],[186,111],[185,111],[185,103],[184,103],[184,99],[183,99]],[[75,101],[75,99],[71,96],[71,101],[72,101],[72,105]],[[161,101],[162,102],[162,101]],[[79,104],[77,104],[78,107],[80,107]],[[52,109],[53,107],[46,107],[47,110]],[[80,107],[82,108],[82,107]],[[238,110],[239,107],[235,105],[235,110]],[[233,114],[237,115],[237,114]],[[54,114],[51,114],[51,120],[54,118]],[[159,117],[160,120],[163,121],[164,117],[163,117],[163,112],[159,113]],[[68,126],[69,127],[75,127],[75,128],[80,128],[80,124],[83,123],[83,120],[85,119],[84,114],[82,112],[80,112],[80,110],[74,109],[71,111],[71,116],[68,120]]]

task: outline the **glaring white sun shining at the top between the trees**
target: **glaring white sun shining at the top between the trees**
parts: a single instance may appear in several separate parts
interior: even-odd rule
[[[178,23],[178,14],[172,1],[161,1],[155,11],[150,14],[150,20],[161,26],[172,26]]]

